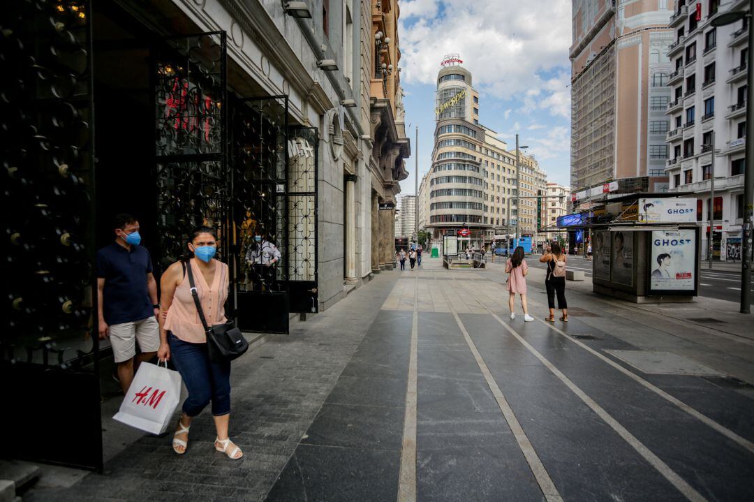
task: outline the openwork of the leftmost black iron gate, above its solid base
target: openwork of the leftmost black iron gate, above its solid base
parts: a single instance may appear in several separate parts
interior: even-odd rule
[[[88,5],[11,2],[4,17],[2,361],[81,367],[97,348]]]

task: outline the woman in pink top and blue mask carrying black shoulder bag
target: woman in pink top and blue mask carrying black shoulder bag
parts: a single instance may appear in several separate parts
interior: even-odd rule
[[[214,228],[198,227],[189,234],[189,251],[192,257],[185,262],[175,262],[162,275],[160,286],[160,360],[173,358],[173,363],[183,378],[189,397],[183,403],[183,414],[173,436],[173,450],[183,455],[189,441],[192,418],[212,402],[217,437],[215,449],[228,458],[238,459],[244,454],[241,448],[228,439],[228,422],[231,412],[231,364],[229,361],[213,363],[207,352],[207,336],[199,320],[186,267],[191,267],[196,289],[207,324],[222,324],[225,318],[225,300],[228,298],[228,265],[213,259],[217,251],[217,234]]]

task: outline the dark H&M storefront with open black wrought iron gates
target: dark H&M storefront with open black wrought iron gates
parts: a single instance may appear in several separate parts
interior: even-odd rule
[[[0,368],[19,382],[9,402],[23,413],[3,418],[14,458],[102,468],[110,354],[92,329],[93,264],[116,213],[139,219],[158,280],[192,227],[216,228],[245,331],[287,332],[291,313],[319,306],[319,131],[228,57],[233,34],[198,32],[170,2],[149,15],[130,7],[13,2],[5,12]],[[259,231],[282,253],[273,271],[248,259]],[[65,431],[54,442],[12,433],[51,426]]]

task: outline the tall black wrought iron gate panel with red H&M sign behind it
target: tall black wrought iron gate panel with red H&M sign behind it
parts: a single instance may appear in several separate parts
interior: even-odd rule
[[[225,32],[168,38],[155,49],[155,170],[162,269],[186,253],[188,232],[216,229],[227,256]]]

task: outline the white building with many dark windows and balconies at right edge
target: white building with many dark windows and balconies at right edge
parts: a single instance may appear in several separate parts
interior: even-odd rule
[[[673,60],[673,72],[667,76],[673,87],[673,101],[667,107],[667,173],[670,191],[697,194],[703,259],[708,256],[711,231],[713,258],[740,261],[749,30],[746,20],[718,28],[710,21],[718,11],[746,10],[749,2],[698,3],[697,14],[697,2],[679,0],[670,18],[676,40],[667,51]]]

